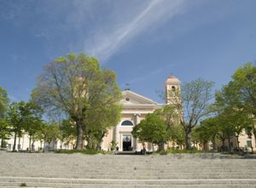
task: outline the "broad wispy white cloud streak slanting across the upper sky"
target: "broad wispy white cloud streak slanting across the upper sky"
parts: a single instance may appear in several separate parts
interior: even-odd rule
[[[132,38],[144,31],[157,28],[166,20],[172,19],[174,15],[182,13],[184,4],[183,0],[152,0],[140,12],[131,11],[131,14],[135,14],[131,20],[113,21],[114,24],[110,26],[112,29],[108,32],[99,29],[90,41],[85,39],[84,51],[104,62]]]

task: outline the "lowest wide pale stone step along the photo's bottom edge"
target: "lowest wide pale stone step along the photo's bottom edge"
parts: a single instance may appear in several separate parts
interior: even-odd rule
[[[0,187],[255,187],[256,179],[63,179],[0,177]]]

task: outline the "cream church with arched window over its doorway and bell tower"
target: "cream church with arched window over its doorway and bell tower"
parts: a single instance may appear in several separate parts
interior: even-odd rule
[[[119,148],[119,151],[141,151],[142,143],[131,135],[132,128],[143,120],[148,113],[153,113],[156,109],[161,109],[165,105],[172,105],[171,91],[180,89],[181,82],[177,77],[168,77],[165,82],[166,104],[159,104],[154,100],[132,92],[126,88],[122,94],[123,99],[120,101],[123,105],[122,116],[119,123],[108,130],[108,134],[102,140],[102,150],[109,151],[111,143]],[[153,145],[146,144],[146,150],[152,151]]]

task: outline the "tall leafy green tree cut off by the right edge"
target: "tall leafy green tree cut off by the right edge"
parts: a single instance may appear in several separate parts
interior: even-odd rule
[[[237,138],[241,129],[250,123],[256,139],[256,66],[253,63],[238,68],[230,83],[216,94],[216,100],[219,109],[232,111],[229,116],[236,123]]]

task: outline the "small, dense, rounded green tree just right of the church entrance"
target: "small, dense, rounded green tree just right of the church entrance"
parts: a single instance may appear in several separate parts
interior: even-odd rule
[[[141,142],[151,142],[159,145],[160,150],[162,143],[170,140],[167,136],[166,123],[157,114],[148,114],[145,119],[133,127],[131,134]]]

